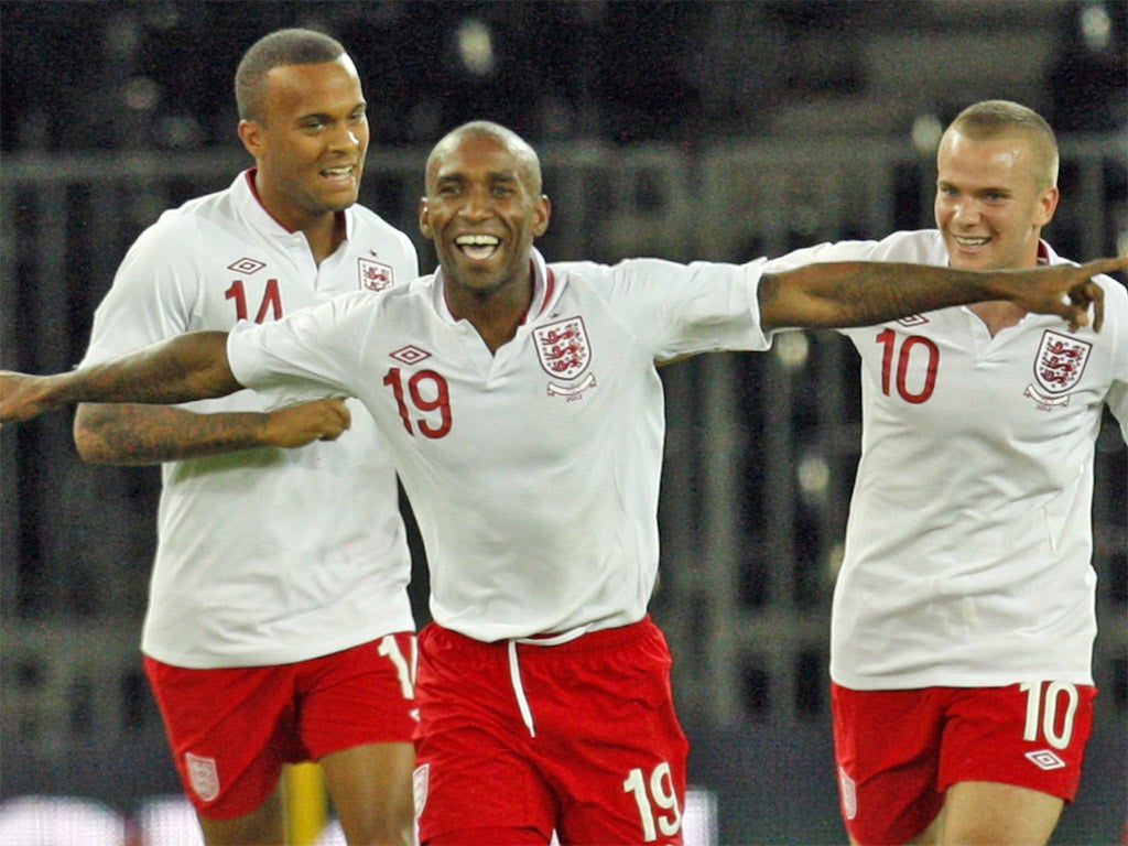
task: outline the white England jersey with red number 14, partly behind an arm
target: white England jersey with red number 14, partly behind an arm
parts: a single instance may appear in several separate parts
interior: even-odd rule
[[[275,302],[288,315],[417,275],[411,240],[362,206],[345,212],[347,240],[318,266],[249,179],[165,212],[138,238],[95,315],[85,363],[230,329],[240,301],[249,320],[265,305],[270,321]],[[267,399],[245,390],[185,407],[263,411]],[[147,654],[188,668],[276,664],[414,628],[395,476],[359,405],[336,442],[167,462],[162,479]]]

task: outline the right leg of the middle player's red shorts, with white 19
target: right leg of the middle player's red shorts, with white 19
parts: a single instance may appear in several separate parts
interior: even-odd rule
[[[561,843],[681,843],[689,744],[658,626],[646,618],[574,644],[525,646],[520,662],[537,765],[561,802]]]

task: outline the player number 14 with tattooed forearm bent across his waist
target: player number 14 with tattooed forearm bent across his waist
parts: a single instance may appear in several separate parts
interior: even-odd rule
[[[356,204],[368,105],[344,47],[272,33],[235,91],[254,167],[142,232],[86,363],[417,275],[407,236]],[[337,398],[274,411],[250,391],[78,409],[87,460],[162,465],[142,651],[209,844],[281,844],[279,775],[305,759],[350,844],[413,840],[411,565],[395,474],[358,416]]]

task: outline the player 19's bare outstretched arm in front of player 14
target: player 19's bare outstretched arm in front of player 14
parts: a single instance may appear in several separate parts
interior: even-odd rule
[[[226,332],[193,332],[68,373],[0,372],[0,423],[77,403],[175,405],[233,394]]]

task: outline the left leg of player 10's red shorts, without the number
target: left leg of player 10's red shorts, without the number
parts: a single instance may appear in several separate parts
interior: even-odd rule
[[[831,686],[840,810],[855,843],[908,843],[936,819],[944,704],[944,688]]]

